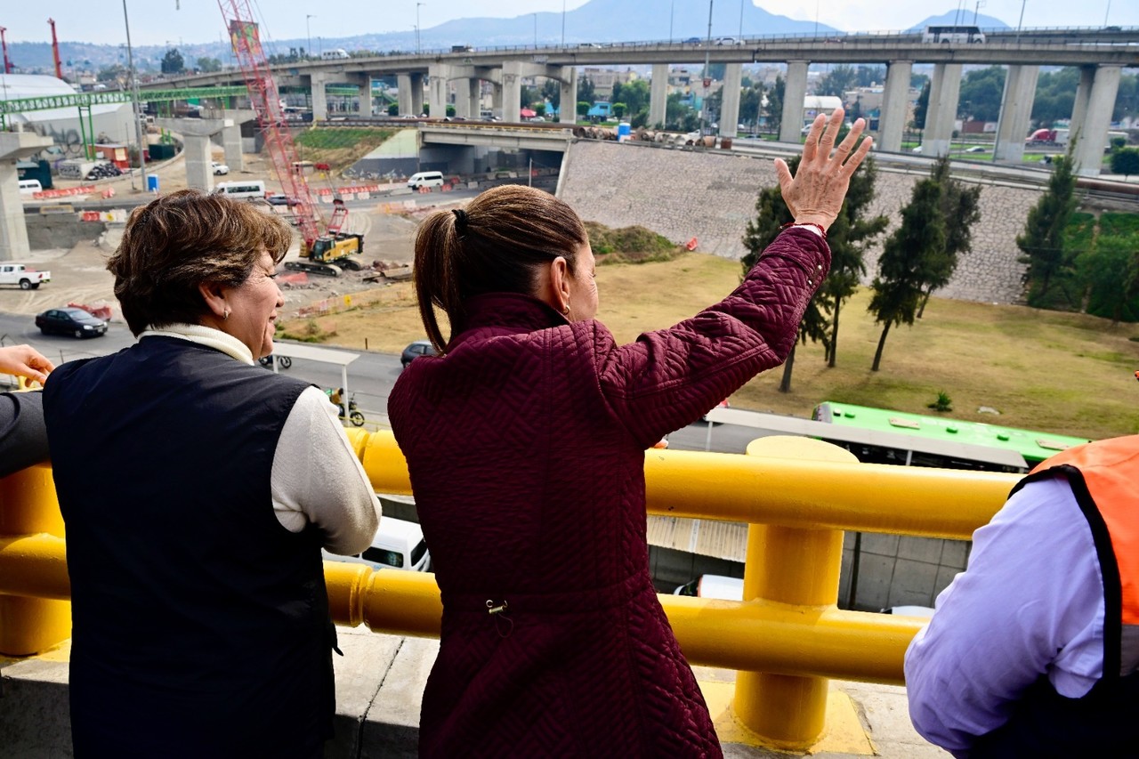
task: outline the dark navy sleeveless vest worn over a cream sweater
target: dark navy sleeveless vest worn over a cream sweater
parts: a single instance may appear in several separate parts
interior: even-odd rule
[[[51,374],[76,756],[319,756],[320,536],[282,528],[270,491],[305,386],[172,337]]]

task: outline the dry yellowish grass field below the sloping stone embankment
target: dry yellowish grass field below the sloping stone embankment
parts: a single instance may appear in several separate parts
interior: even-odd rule
[[[599,318],[622,342],[674,324],[726,295],[739,281],[739,264],[705,254],[674,261],[598,269]],[[388,288],[385,305],[320,320],[353,349],[399,352],[423,337],[410,285]],[[838,361],[828,369],[822,349],[800,345],[792,392],[778,391],[773,369],[732,397],[756,410],[808,416],[816,403],[838,400],[926,414],[939,391],[949,393],[953,418],[1088,438],[1139,432],[1139,334],[1134,325],[1105,319],[933,299],[915,326],[892,327],[882,370],[870,372],[880,334],[861,291],[841,312]],[[289,325],[302,332],[303,323]],[[444,327],[445,330],[445,327]],[[989,406],[1001,416],[978,414]]]

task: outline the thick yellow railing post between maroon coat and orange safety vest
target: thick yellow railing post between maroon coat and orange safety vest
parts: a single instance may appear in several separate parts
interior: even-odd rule
[[[772,435],[753,440],[749,456],[813,462],[857,462],[847,450],[809,438]],[[842,530],[751,524],[744,599],[814,607],[838,603]],[[732,708],[761,740],[781,749],[806,749],[822,735],[827,717],[825,677],[740,670]]]

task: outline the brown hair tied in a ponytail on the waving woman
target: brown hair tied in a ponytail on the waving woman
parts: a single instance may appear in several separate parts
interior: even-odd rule
[[[433,307],[446,313],[453,336],[467,299],[533,295],[538,266],[562,256],[573,272],[577,250],[588,242],[573,209],[523,185],[489,189],[462,210],[435,211],[416,235],[416,296],[427,337],[442,353],[446,343]]]

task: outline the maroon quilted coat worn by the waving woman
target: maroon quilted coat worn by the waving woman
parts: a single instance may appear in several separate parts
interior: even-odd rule
[[[721,756],[649,580],[645,449],[786,358],[829,262],[785,231],[728,299],[629,345],[480,295],[408,367],[388,414],[443,593],[421,756]]]

